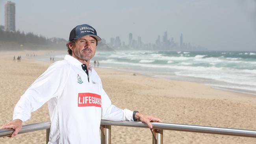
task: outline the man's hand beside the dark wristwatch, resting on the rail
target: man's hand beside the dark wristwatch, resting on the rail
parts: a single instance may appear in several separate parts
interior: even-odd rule
[[[152,129],[153,126],[151,122],[162,122],[159,118],[155,118],[154,116],[150,116],[143,113],[136,113],[135,119],[147,124],[151,131],[154,131],[154,129]]]

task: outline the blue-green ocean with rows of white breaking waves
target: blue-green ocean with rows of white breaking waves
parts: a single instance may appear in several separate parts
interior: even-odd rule
[[[65,54],[36,59],[62,60]],[[100,67],[136,72],[157,78],[204,83],[216,89],[256,94],[256,52],[96,52]]]

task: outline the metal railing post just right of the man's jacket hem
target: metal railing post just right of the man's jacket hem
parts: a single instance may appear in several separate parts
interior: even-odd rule
[[[111,144],[111,126],[110,125],[100,125],[101,130],[101,144]]]

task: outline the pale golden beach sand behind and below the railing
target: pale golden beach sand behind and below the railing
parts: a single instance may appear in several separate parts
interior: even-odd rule
[[[26,60],[22,52],[0,52],[0,125],[12,120],[20,96],[51,64]],[[46,51],[36,51],[40,55]],[[13,62],[13,55],[22,55]],[[212,89],[199,83],[152,78],[119,70],[96,68],[112,103],[122,109],[152,114],[163,122],[256,130],[256,96]],[[23,124],[49,121],[47,103]],[[46,130],[0,138],[1,144],[45,144]],[[150,144],[149,129],[111,127],[112,144]],[[256,138],[163,131],[164,144],[255,144]]]

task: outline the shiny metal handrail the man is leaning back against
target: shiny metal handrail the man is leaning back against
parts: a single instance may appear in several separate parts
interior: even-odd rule
[[[19,131],[20,133],[28,133],[32,131],[39,131],[46,129],[46,143],[49,137],[50,122],[41,122],[36,124],[28,124],[22,126]],[[102,126],[107,126],[111,132],[110,126],[128,126],[128,127],[142,127],[148,128],[148,126],[142,122],[134,121],[108,121],[101,120]],[[186,124],[172,124],[164,122],[152,122],[154,129],[164,129],[164,130],[173,130],[173,131],[187,131],[187,132],[197,132],[197,133],[211,133],[211,134],[220,134],[220,135],[234,135],[242,137],[256,137],[255,130],[248,129],[233,129],[233,128],[224,128],[224,127],[209,127],[209,126],[196,126],[196,125],[186,125]],[[107,132],[107,130],[102,131],[102,133]],[[13,133],[13,129],[0,129],[0,137],[6,137]],[[109,135],[109,134],[107,134]],[[111,135],[111,134],[110,134]],[[161,136],[163,133],[161,132]],[[155,137],[156,138],[156,137]],[[109,140],[109,139],[108,139]],[[111,137],[110,137],[111,142]]]

